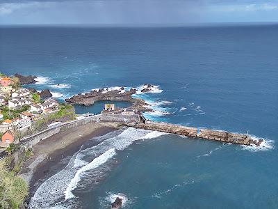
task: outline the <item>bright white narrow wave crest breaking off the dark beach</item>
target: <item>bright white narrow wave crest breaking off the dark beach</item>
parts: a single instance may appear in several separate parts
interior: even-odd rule
[[[116,154],[116,151],[114,148],[111,148],[110,150],[107,150],[102,155],[99,155],[99,157],[96,157],[92,162],[89,164],[86,164],[85,166],[81,167],[76,173],[74,178],[70,181],[70,184],[68,185],[67,189],[65,190],[65,199],[70,199],[74,197],[74,194],[72,194],[72,191],[77,187],[79,181],[81,180],[81,177],[85,173],[85,171],[95,169],[99,167],[101,164],[104,164],[107,160],[111,159]]]

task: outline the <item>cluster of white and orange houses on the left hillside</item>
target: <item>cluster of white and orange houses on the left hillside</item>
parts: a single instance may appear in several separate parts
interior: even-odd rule
[[[0,111],[0,133],[2,133],[2,140],[0,146],[3,144],[10,144],[15,140],[15,130],[24,130],[31,127],[32,121],[36,116],[43,113],[48,113],[58,107],[58,102],[52,98],[44,100],[42,103],[34,103],[32,100],[32,93],[26,88],[13,88],[13,79],[9,77],[0,78],[0,106],[5,105],[10,110],[19,110],[24,105],[28,105],[28,110],[22,111],[19,118],[3,120],[3,114]]]

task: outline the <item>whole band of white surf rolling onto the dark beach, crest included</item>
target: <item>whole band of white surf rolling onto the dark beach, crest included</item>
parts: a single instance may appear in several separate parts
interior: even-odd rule
[[[93,138],[92,140],[99,141],[99,144],[79,150],[79,152],[74,154],[65,169],[42,183],[31,199],[29,208],[51,208],[65,205],[67,208],[71,208],[69,206],[71,203],[72,205],[77,204],[73,192],[79,186],[82,186],[81,179],[84,178],[82,183],[85,183],[85,179],[88,178],[85,175],[87,172],[96,171],[96,178],[99,178],[105,173],[101,173],[97,168],[112,160],[117,150],[124,150],[133,141],[153,139],[163,134],[166,133],[129,127],[125,130],[118,130]],[[90,176],[90,180],[92,178],[94,176]]]

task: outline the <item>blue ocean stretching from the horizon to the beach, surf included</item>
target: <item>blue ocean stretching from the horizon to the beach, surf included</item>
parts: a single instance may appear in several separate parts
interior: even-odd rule
[[[125,128],[84,144],[30,208],[111,208],[116,196],[123,208],[278,208],[277,37],[278,24],[1,26],[1,72],[36,75],[30,86],[57,100],[154,84],[136,95],[154,109],[147,118],[266,141],[251,148]]]

